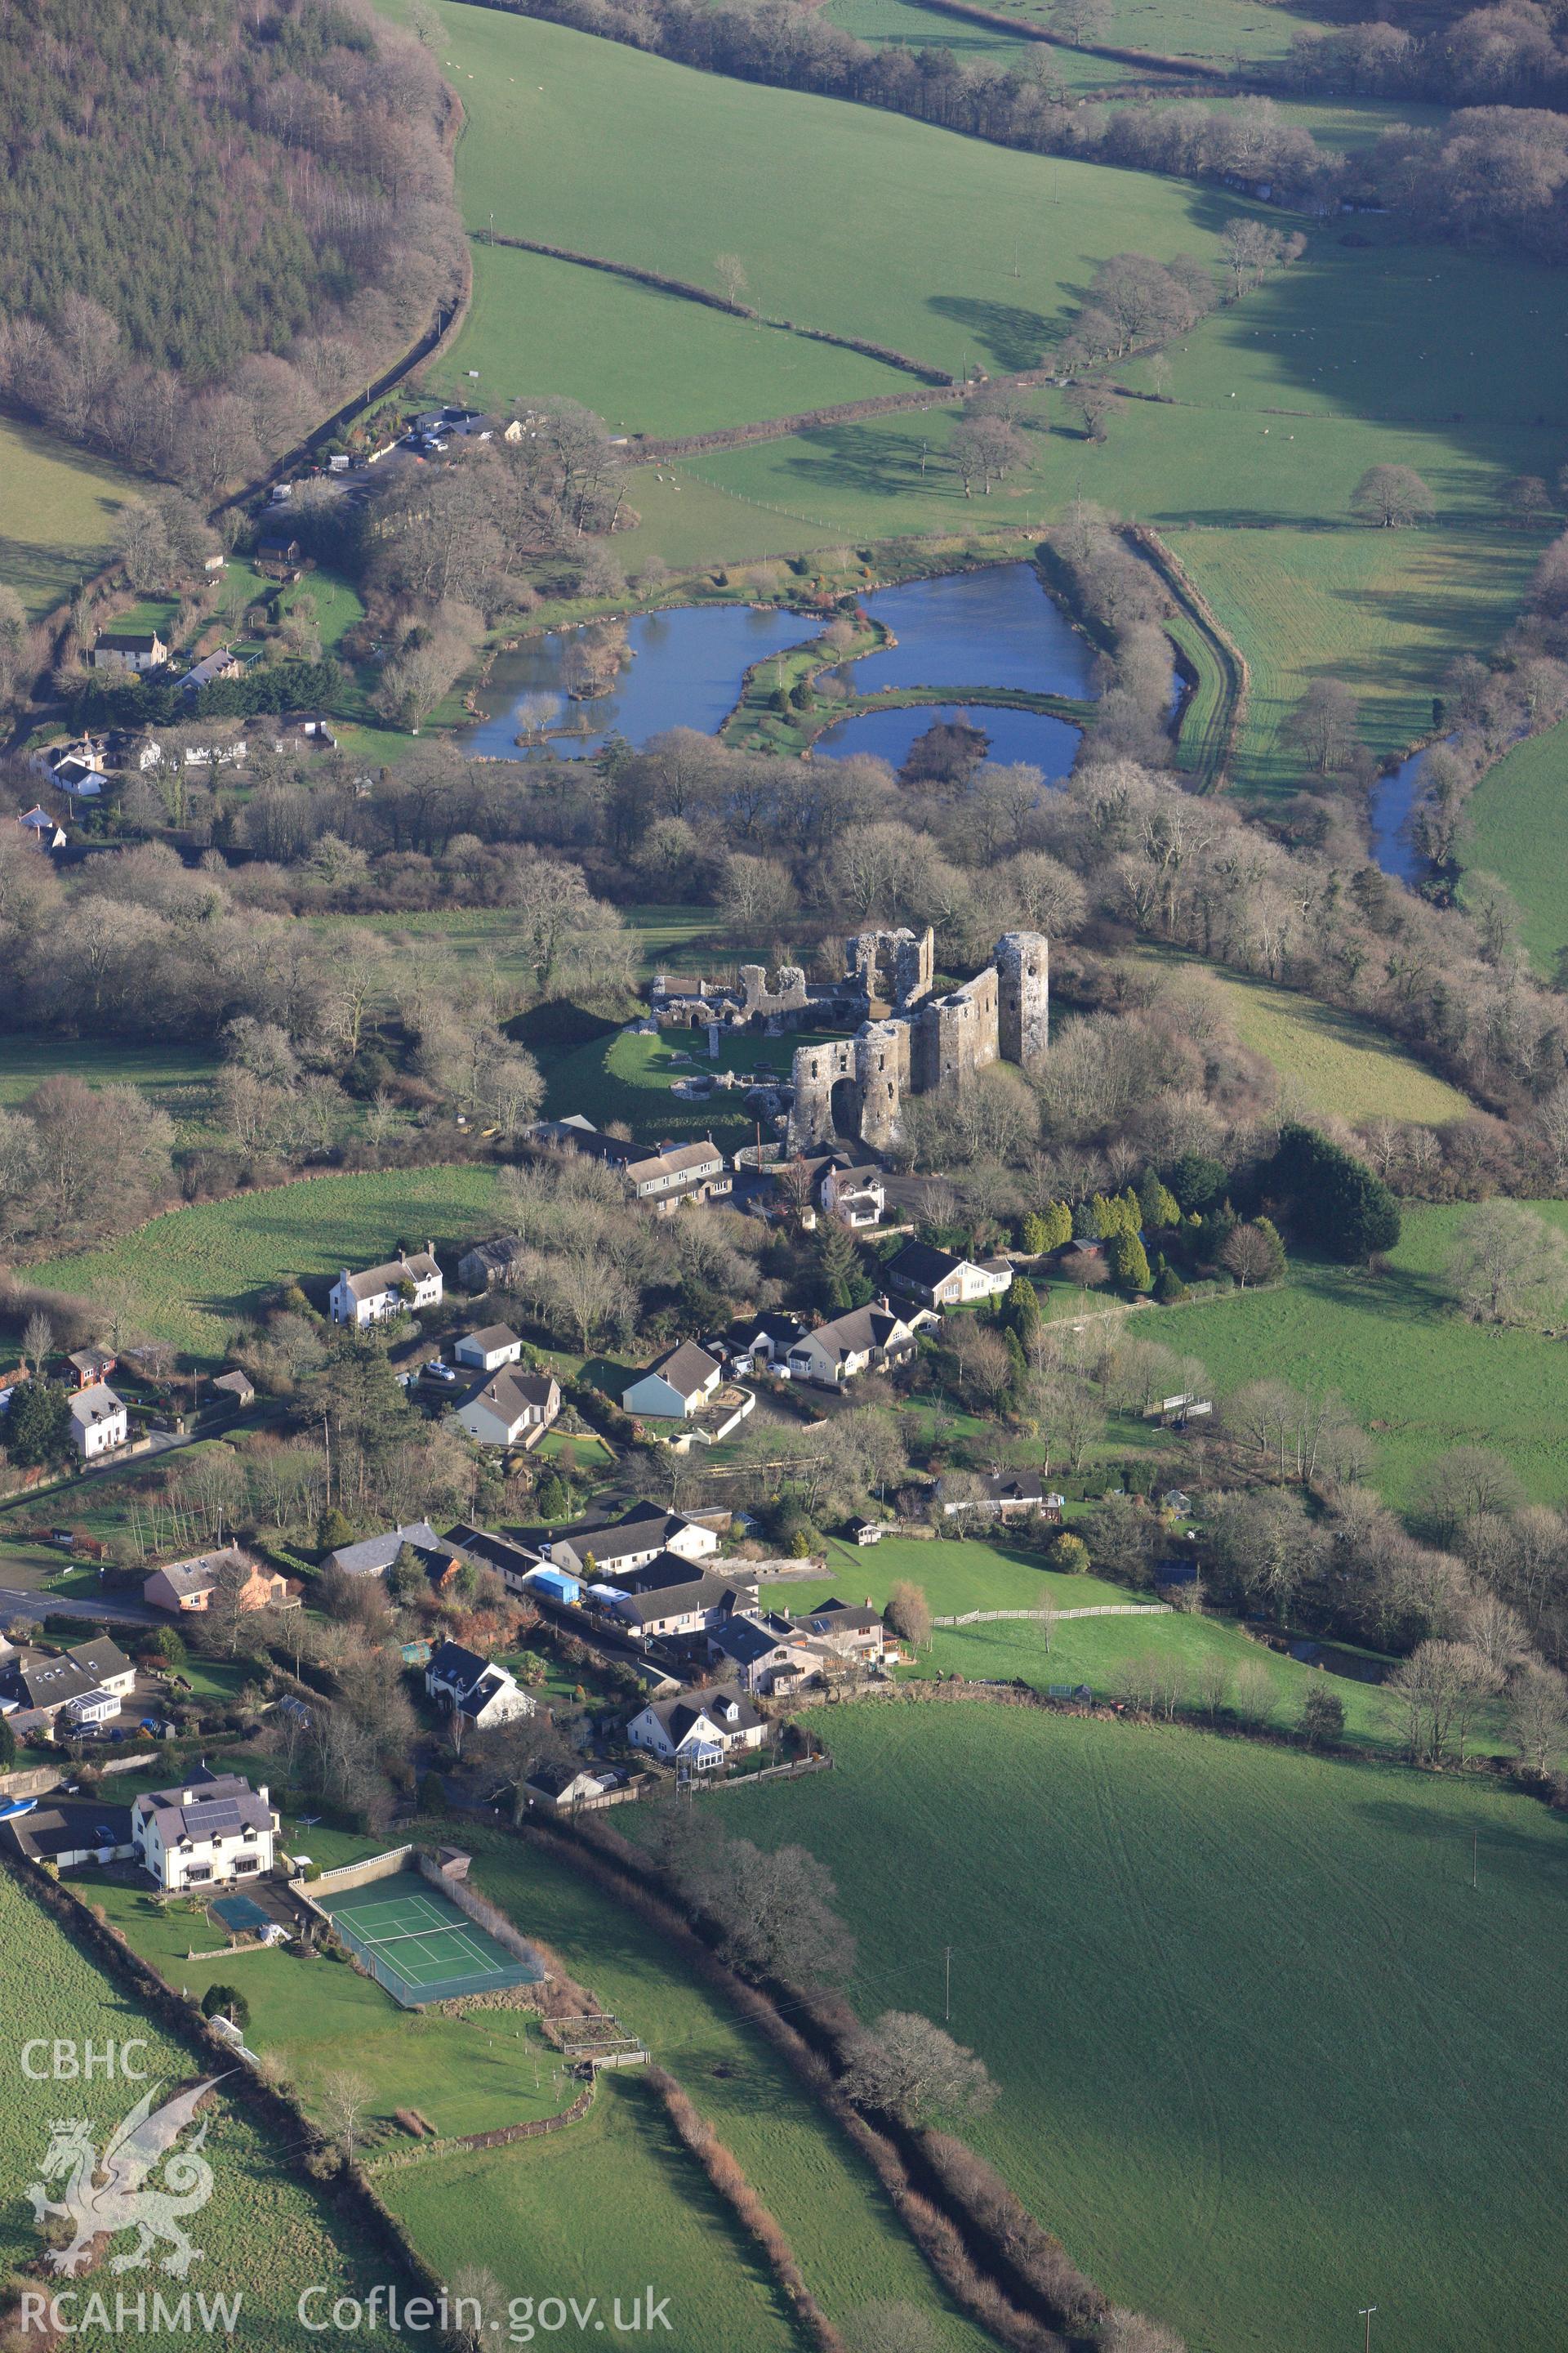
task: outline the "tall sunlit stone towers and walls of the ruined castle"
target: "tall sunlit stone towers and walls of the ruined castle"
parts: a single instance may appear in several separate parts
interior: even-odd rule
[[[1051,944],[1004,932],[973,981],[931,995],[931,932],[860,932],[844,944],[844,995],[863,1009],[853,1038],[795,1049],[790,1151],[853,1136],[898,1141],[907,1094],[957,1094],[992,1061],[1039,1071],[1051,1026]],[[780,976],[783,979],[783,976]]]

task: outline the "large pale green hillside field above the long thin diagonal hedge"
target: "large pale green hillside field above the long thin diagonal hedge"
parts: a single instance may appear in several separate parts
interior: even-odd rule
[[[717,80],[524,16],[451,0],[440,16],[442,61],[468,108],[458,193],[470,228],[494,212],[498,233],[712,287],[717,254],[736,254],[745,299],[766,315],[954,372],[966,358],[1032,365],[1100,259],[1126,247],[1215,256],[1220,228],[1246,209],[1213,191]],[[569,362],[571,320],[567,339]],[[550,339],[529,325],[529,344],[531,381],[498,391],[552,388]],[[607,365],[625,381],[621,355]]]

